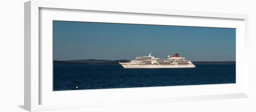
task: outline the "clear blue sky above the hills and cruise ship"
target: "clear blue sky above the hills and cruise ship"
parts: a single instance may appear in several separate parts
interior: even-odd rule
[[[53,21],[54,60],[159,58],[235,61],[236,29]]]

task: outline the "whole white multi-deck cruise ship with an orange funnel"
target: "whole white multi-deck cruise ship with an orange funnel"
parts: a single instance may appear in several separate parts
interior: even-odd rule
[[[184,57],[179,57],[176,53],[166,59],[156,58],[149,53],[148,56],[136,57],[129,62],[119,62],[124,68],[193,68],[195,65]]]

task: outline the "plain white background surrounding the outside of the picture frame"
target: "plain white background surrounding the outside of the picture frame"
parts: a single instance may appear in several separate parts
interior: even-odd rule
[[[0,3],[0,112],[26,112],[24,102],[24,2]],[[167,8],[249,14],[250,90],[247,99],[224,99],[180,103],[141,104],[54,112],[256,112],[256,7],[254,0],[94,0],[99,5]],[[71,4],[72,5],[72,4]]]

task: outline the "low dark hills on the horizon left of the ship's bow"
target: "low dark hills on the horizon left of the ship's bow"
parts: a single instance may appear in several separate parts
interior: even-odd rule
[[[104,59],[79,59],[79,60],[54,60],[54,65],[113,65],[119,62],[128,62],[129,60],[104,60]]]

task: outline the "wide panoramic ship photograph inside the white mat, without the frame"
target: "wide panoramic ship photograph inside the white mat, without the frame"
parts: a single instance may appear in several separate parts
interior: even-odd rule
[[[53,20],[53,91],[236,83],[236,28]]]

